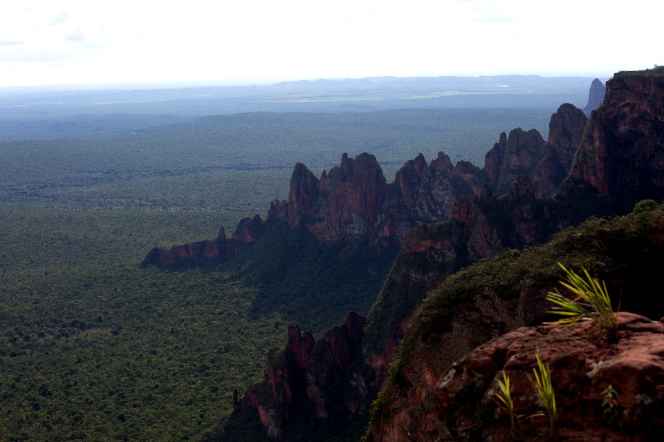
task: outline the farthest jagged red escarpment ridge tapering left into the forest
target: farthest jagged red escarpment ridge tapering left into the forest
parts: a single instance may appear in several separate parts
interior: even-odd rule
[[[344,153],[339,166],[315,177],[302,163],[291,176],[288,201],[270,204],[268,220],[285,222],[291,229],[305,229],[320,242],[367,241],[379,251],[400,246],[410,229],[420,224],[447,220],[454,202],[477,196],[484,184],[492,192],[505,193],[519,176],[533,182],[538,198],[549,198],[562,182],[571,164],[585,117],[571,104],[560,106],[551,117],[548,142],[535,130],[521,128],[501,133],[486,154],[483,169],[439,153],[427,164],[423,155],[410,160],[387,183],[374,155]],[[264,222],[256,215],[241,220],[232,238],[155,247],[140,266],[160,267],[217,265],[259,240]]]

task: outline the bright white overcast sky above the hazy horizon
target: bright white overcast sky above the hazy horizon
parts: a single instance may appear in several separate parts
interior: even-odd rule
[[[664,64],[662,17],[664,0],[2,1],[0,87],[607,78]]]

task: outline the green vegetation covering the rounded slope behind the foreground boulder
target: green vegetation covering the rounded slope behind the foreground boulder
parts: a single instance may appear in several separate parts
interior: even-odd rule
[[[555,319],[546,313],[551,308],[546,294],[558,287],[561,272],[557,262],[570,269],[588,269],[605,280],[616,296],[631,294],[621,299],[621,310],[660,318],[664,302],[656,294],[652,275],[664,265],[662,238],[664,206],[644,200],[628,215],[592,218],[558,233],[546,244],[526,251],[506,250],[493,260],[481,260],[446,278],[416,309],[391,363],[387,382],[372,405],[371,425],[380,425],[398,411],[392,401],[413,388],[409,374],[416,363],[415,354],[421,354],[424,348],[430,354],[445,352],[442,339],[452,327],[488,327],[492,330],[489,334],[497,336],[508,331],[508,323],[537,325]],[[489,298],[481,300],[487,294]],[[486,323],[465,324],[464,318],[474,317],[472,312],[486,302],[516,302],[514,305],[520,307],[519,311],[504,311],[508,317],[499,320],[486,317]],[[448,363],[443,363],[438,368],[445,372],[447,367]]]

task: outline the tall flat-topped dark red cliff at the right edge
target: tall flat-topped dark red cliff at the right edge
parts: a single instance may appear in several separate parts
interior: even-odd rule
[[[664,197],[664,72],[618,73],[584,131],[561,198],[583,193],[625,213]]]

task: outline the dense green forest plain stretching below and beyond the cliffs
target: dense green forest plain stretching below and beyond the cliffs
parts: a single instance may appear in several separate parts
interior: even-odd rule
[[[419,152],[481,164],[501,131],[546,137],[553,111],[243,114],[1,142],[0,439],[199,439],[234,388],[261,376],[288,323],[320,333],[349,309],[366,314],[396,251],[376,260],[275,224],[280,240],[219,267],[138,269],[151,247],[265,215],[287,198],[295,162],[320,173],[369,151],[388,180]]]

